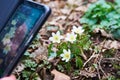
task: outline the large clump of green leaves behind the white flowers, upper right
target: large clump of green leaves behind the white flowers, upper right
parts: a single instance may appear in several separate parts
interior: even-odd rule
[[[89,30],[89,33],[95,28],[100,28],[113,34],[115,39],[120,39],[120,0],[115,0],[115,3],[106,0],[93,3],[80,19],[80,23],[85,25],[85,31]],[[83,47],[82,44],[81,46]]]

